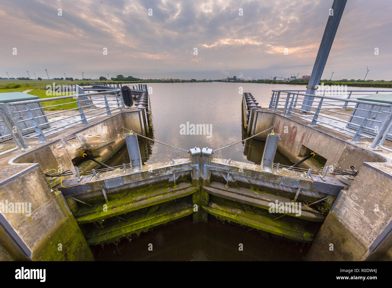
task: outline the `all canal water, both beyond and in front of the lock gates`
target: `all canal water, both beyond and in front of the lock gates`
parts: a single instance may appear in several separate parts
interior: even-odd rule
[[[272,89],[304,90],[299,85],[272,85],[261,83],[147,83],[152,111],[152,130],[149,138],[189,150],[193,147],[218,149],[247,138],[243,131],[242,93],[250,92],[261,107],[268,107]],[[190,135],[181,127],[205,124],[208,134]],[[212,129],[211,129],[212,127]],[[131,128],[131,127],[126,127]],[[183,129],[184,130],[184,129]],[[206,131],[207,132],[207,131]],[[214,153],[225,159],[260,164],[264,141],[250,139]],[[186,152],[159,143],[140,140],[143,163],[148,165],[172,158],[181,158]],[[278,152],[274,162],[290,165],[289,159]],[[110,159],[110,166],[129,163],[126,147]],[[148,250],[152,244],[152,251]],[[243,250],[240,251],[240,244]],[[93,246],[96,260],[302,260],[309,245],[303,245],[249,227],[241,227],[209,216],[208,222],[192,223],[187,217],[176,223],[142,233],[118,245]]]

